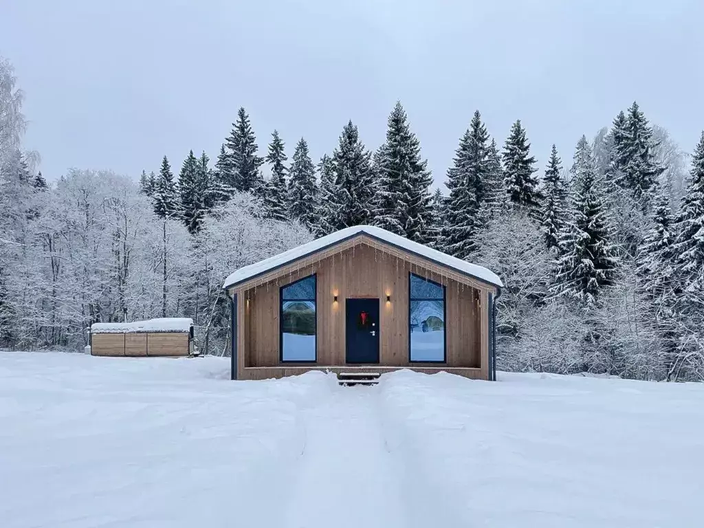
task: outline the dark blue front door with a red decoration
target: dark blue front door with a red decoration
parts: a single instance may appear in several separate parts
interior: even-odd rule
[[[379,363],[379,299],[348,298],[347,363]]]

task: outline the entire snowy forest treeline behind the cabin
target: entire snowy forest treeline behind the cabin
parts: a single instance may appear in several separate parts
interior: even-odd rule
[[[19,110],[1,115],[23,125]],[[544,170],[520,121],[499,146],[477,111],[445,192],[432,192],[401,103],[382,146],[348,122],[317,163],[303,138],[289,161],[276,131],[262,153],[241,108],[215,163],[191,151],[176,176],[164,157],[139,186],[81,170],[47,186],[15,128],[0,178],[0,346],[79,348],[92,322],[182,315],[201,346],[227,351],[228,272],[372,224],[502,277],[500,368],[704,379],[704,134],[689,160],[636,103],[579,139],[568,167],[553,146]]]

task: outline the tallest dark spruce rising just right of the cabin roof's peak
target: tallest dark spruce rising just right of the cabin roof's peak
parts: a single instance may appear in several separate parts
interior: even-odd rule
[[[421,244],[427,242],[432,229],[432,177],[400,102],[389,115],[386,142],[375,156],[375,168],[379,178],[375,225]]]

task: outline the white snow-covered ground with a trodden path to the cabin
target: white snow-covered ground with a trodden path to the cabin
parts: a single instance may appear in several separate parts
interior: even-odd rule
[[[704,385],[0,353],[0,527],[701,527]]]

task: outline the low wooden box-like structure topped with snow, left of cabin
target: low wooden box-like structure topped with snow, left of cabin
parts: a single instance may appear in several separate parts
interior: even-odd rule
[[[96,322],[90,328],[92,356],[192,356],[193,320],[158,318],[134,322]]]

